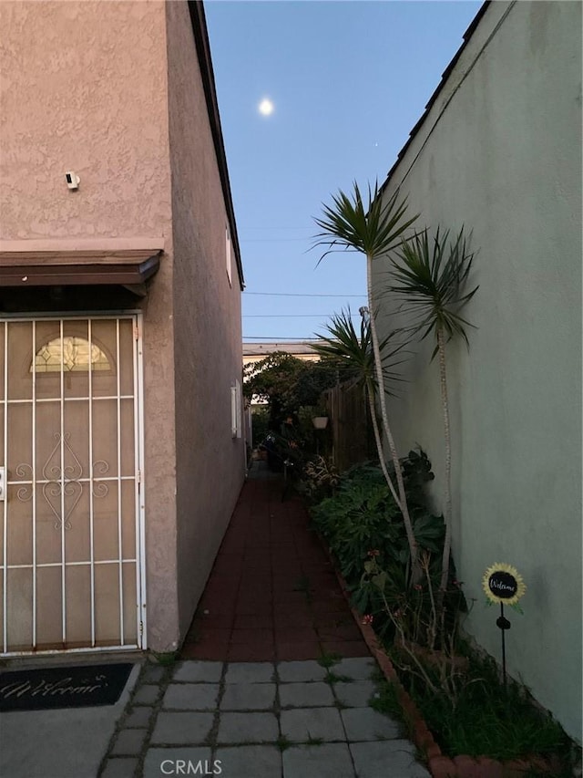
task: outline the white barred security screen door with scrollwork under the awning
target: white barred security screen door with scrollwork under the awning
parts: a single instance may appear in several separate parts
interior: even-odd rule
[[[137,325],[0,320],[5,654],[141,648]]]

